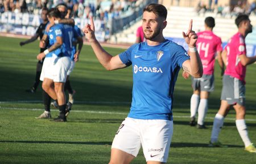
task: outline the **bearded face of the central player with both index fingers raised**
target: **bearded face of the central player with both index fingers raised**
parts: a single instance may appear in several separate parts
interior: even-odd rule
[[[163,29],[165,27],[165,20],[156,16],[154,12],[143,12],[142,18],[142,28],[144,37],[147,40],[154,40],[162,35]]]

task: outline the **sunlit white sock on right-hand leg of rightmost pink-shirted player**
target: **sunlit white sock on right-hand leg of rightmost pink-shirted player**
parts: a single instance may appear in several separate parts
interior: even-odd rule
[[[243,143],[245,144],[245,147],[246,146],[249,146],[251,144],[251,141],[249,139],[249,136],[248,136],[248,132],[247,132],[247,127],[246,127],[246,124],[245,124],[245,119],[237,119],[236,120],[236,126],[237,126],[237,130],[243,140]]]

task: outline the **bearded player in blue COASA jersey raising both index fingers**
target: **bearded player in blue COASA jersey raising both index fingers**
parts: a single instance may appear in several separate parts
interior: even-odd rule
[[[133,98],[130,113],[115,134],[109,163],[130,163],[143,148],[147,163],[166,163],[171,144],[174,87],[180,68],[193,77],[203,75],[197,53],[197,35],[192,20],[182,33],[189,52],[163,37],[166,7],[150,4],[143,10],[142,28],[146,42],[132,45],[112,56],[96,40],[93,19],[82,31],[98,61],[106,70],[133,67]]]

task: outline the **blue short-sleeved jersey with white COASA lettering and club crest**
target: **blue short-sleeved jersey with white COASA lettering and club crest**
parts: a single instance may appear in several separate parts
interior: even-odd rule
[[[166,40],[156,46],[141,42],[119,54],[133,66],[133,100],[128,117],[172,120],[177,75],[189,56],[184,48]]]

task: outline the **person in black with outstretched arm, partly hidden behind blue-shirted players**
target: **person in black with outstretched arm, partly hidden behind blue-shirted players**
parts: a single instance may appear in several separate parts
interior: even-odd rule
[[[26,41],[20,42],[19,43],[20,46],[29,44],[30,42],[37,40],[38,37],[40,38],[40,40],[42,39],[42,37],[44,35],[44,29],[46,28],[46,24],[48,23],[47,14],[48,14],[47,8],[43,8],[42,12],[41,12],[41,18],[42,18],[43,22],[40,23],[34,36],[32,36],[30,39],[28,39]],[[44,50],[46,50],[46,48],[40,48],[40,53],[42,53]],[[40,83],[40,75],[41,75],[41,71],[42,71],[43,61],[44,61],[44,58],[42,59],[42,61],[38,61],[38,63],[36,64],[35,83],[34,83],[33,87],[31,87],[30,89],[27,89],[26,92],[30,92],[30,93],[36,92],[36,89],[38,88],[38,85]]]

